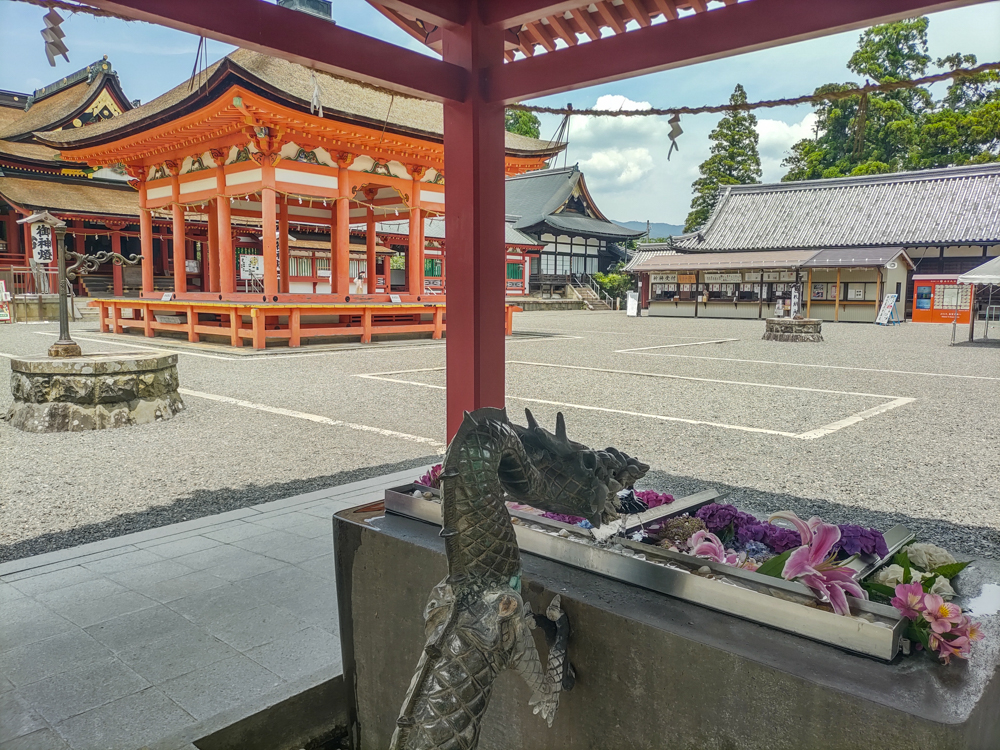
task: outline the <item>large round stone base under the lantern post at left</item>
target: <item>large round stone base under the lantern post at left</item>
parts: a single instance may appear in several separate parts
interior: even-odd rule
[[[184,409],[177,355],[88,354],[10,361],[7,420],[25,432],[82,432],[170,419]]]

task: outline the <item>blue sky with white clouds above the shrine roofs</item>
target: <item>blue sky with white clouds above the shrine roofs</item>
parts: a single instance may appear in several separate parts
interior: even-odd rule
[[[107,55],[126,95],[148,101],[186,80],[192,72],[198,38],[145,23],[63,14],[67,63],[55,68],[45,58],[39,31],[42,8],[0,0],[0,89],[29,93]],[[363,0],[333,0],[336,22],[362,34],[430,53]],[[1000,61],[1000,0],[931,14],[928,32],[932,58],[962,52],[980,63]],[[698,106],[728,101],[737,83],[751,101],[811,93],[830,82],[856,81],[847,60],[860,31],[761,50],[625,81],[592,86],[526,102],[575,109]],[[209,62],[232,47],[208,42]],[[940,94],[940,87],[937,91]],[[756,112],[764,182],[784,174],[789,147],[812,131],[808,105]],[[681,118],[684,133],[670,159],[665,117],[574,117],[565,159],[579,164],[601,211],[617,221],[683,224],[691,202],[691,183],[709,154],[709,133],[719,115]],[[541,116],[549,138],[559,117]],[[559,165],[563,157],[559,159]]]

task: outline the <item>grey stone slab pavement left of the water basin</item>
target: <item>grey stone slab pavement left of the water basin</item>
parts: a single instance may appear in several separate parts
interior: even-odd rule
[[[0,565],[0,750],[134,750],[339,674],[331,516],[421,473]]]

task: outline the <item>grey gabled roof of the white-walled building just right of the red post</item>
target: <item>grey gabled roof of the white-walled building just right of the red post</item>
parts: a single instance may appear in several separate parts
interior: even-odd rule
[[[597,208],[583,172],[575,165],[509,177],[505,197],[506,212],[514,218],[513,226],[518,230],[588,235],[612,241],[645,234],[608,220]]]

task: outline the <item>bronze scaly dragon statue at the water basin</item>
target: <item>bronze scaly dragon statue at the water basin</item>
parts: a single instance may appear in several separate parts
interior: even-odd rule
[[[493,681],[515,669],[530,704],[549,726],[559,694],[573,685],[566,658],[569,622],[559,597],[544,618],[521,598],[521,555],[506,499],[583,516],[595,526],[616,518],[615,497],[649,467],[614,448],[595,451],[555,434],[526,410],[527,427],[503,409],[466,413],[441,473],[448,576],[424,611],[427,641],[396,720],[391,750],[474,750]],[[530,629],[545,631],[543,670]]]

